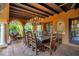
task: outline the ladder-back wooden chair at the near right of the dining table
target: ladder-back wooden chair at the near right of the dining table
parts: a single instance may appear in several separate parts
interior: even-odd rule
[[[51,38],[49,42],[44,42],[43,45],[44,47],[49,49],[49,53],[50,55],[52,55],[52,50],[55,51],[56,50],[56,39],[57,39],[57,35],[56,34],[52,34],[51,33]]]

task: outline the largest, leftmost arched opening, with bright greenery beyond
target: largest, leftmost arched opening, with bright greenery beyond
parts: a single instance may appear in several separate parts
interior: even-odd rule
[[[13,37],[13,40],[16,40],[19,37],[23,37],[23,26],[19,21],[11,21],[9,23],[9,35],[10,38]],[[17,37],[15,39],[15,37]]]

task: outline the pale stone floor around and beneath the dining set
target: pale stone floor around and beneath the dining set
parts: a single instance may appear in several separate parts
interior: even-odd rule
[[[23,42],[13,42],[7,48],[0,49],[0,56],[35,56],[35,52],[28,48]],[[39,52],[38,56],[49,56],[48,51]],[[79,56],[79,48],[60,45],[57,50],[53,52],[52,56]]]

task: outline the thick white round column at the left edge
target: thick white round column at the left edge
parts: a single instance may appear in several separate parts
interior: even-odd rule
[[[5,35],[6,35],[6,29],[5,29],[5,23],[1,23],[0,24],[0,30],[1,30],[1,36],[0,36],[0,48],[3,48],[3,47],[7,47],[7,44],[6,44],[6,38],[5,38]]]

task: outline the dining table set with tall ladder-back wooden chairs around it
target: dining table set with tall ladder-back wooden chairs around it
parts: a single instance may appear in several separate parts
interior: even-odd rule
[[[51,33],[50,35],[45,36],[37,36],[37,33],[27,32],[27,45],[32,48],[32,51],[35,51],[36,55],[41,50],[45,50],[44,48],[49,49],[50,55],[52,54],[52,50],[55,51],[57,47],[57,34]]]

